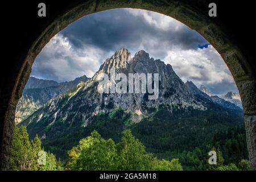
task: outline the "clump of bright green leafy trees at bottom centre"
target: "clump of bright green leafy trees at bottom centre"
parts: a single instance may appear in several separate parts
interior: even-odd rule
[[[66,169],[69,170],[182,170],[178,159],[158,160],[146,152],[130,130],[123,132],[118,144],[93,131],[68,151],[68,156]]]

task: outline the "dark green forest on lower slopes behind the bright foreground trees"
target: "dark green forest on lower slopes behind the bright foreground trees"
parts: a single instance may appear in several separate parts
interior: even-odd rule
[[[214,108],[215,109],[215,108]],[[216,110],[216,109],[215,109]],[[184,170],[206,170],[208,152],[217,148],[222,152],[224,164],[238,165],[242,159],[248,160],[243,119],[236,113],[226,110],[173,110],[160,106],[152,117],[144,117],[134,123],[137,114],[117,109],[108,113],[98,113],[90,119],[86,127],[69,127],[68,133],[50,135],[42,140],[47,151],[51,151],[63,161],[68,160],[67,151],[79,144],[97,130],[104,139],[118,143],[122,131],[130,129],[159,159],[178,158]],[[66,127],[59,122],[59,127]],[[56,132],[52,132],[56,134]],[[33,137],[33,136],[32,136]]]

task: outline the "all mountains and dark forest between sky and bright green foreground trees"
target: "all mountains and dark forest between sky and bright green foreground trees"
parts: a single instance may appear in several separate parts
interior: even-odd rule
[[[158,73],[158,98],[149,100],[149,93],[97,92],[97,76],[110,76],[112,68],[126,76]],[[225,164],[248,158],[239,94],[213,96],[205,86],[184,83],[170,64],[145,51],[131,57],[127,49],[119,49],[92,78],[60,84],[31,80],[34,84],[28,81],[16,109],[17,126],[26,126],[31,139],[38,134],[44,150],[63,163],[67,152],[94,130],[116,143],[123,131],[131,130],[147,152],[159,159],[180,159],[185,170],[207,169],[208,152],[214,147],[222,151]]]

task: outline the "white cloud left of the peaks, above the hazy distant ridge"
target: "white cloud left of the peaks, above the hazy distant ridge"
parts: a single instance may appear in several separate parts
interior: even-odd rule
[[[88,45],[75,49],[68,38],[57,34],[36,58],[31,75],[48,76],[48,79],[52,77],[58,81],[73,80],[82,75],[92,77],[100,68],[104,54],[101,49]]]

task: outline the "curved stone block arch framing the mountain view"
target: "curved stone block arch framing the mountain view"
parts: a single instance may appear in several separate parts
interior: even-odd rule
[[[244,114],[245,114],[245,125],[247,134],[247,146],[249,150],[249,158],[251,166],[255,169],[255,80],[251,69],[246,64],[246,59],[232,42],[228,39],[221,28],[218,27],[214,22],[210,20],[204,14],[201,14],[198,10],[188,7],[182,3],[168,3],[168,4],[154,4],[149,3],[105,3],[104,1],[86,2],[79,6],[73,7],[67,13],[56,18],[42,34],[35,40],[34,44],[30,47],[27,52],[26,59],[24,59],[22,68],[20,69],[19,76],[15,82],[12,96],[10,98],[10,105],[6,111],[5,116],[5,127],[3,127],[3,138],[1,141],[1,159],[2,168],[7,168],[8,152],[10,151],[10,139],[11,130],[14,123],[14,111],[15,105],[18,103],[18,99],[22,95],[24,85],[27,82],[28,76],[31,72],[32,63],[46,45],[46,43],[55,35],[57,32],[62,30],[68,24],[74,22],[76,19],[82,16],[96,13],[98,11],[114,9],[118,7],[132,7],[138,9],[145,9],[150,11],[156,11],[172,18],[183,22],[187,26],[196,30],[207,39],[214,48],[221,54],[225,63],[228,65],[230,72],[232,73],[234,80],[236,81],[238,90],[240,91]]]

